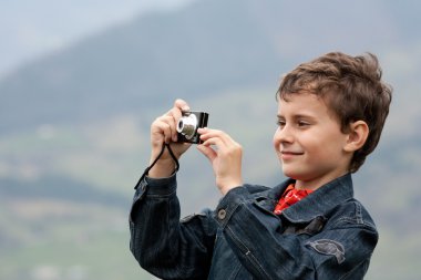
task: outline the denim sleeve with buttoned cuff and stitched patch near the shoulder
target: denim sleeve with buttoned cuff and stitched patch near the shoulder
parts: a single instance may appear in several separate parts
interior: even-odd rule
[[[216,212],[229,247],[254,278],[363,278],[378,235],[352,214],[358,206],[338,209],[319,234],[297,235],[284,234],[280,218],[249,197],[246,187],[232,189]]]

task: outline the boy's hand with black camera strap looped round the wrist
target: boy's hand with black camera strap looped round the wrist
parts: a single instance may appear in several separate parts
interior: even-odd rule
[[[177,141],[177,122],[182,117],[182,111],[189,111],[188,104],[183,100],[176,100],[173,108],[166,114],[157,117],[151,125],[151,162],[160,155],[164,143],[170,144],[177,159],[191,146],[186,143],[175,143]],[[152,167],[148,173],[150,177],[163,178],[168,177],[174,172],[175,163],[167,149],[160,157],[160,160]]]

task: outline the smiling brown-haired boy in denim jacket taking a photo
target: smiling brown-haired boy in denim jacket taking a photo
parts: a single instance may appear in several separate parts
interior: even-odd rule
[[[362,279],[378,232],[353,198],[350,174],[377,146],[391,92],[373,54],[328,53],[299,65],[277,92],[274,146],[289,179],[274,188],[243,184],[240,145],[201,128],[197,148],[224,197],[181,221],[174,170],[189,145],[175,143],[175,127],[189,107],[177,100],[151,126],[157,159],[136,186],[134,257],[163,279]]]

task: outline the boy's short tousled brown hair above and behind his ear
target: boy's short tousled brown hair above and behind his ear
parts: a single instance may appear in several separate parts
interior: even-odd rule
[[[389,114],[392,87],[381,81],[381,69],[374,54],[350,56],[340,52],[327,53],[302,63],[281,81],[277,97],[310,92],[320,96],[338,117],[342,133],[356,121],[364,121],[369,135],[364,145],[355,152],[350,172],[363,164],[374,151]]]

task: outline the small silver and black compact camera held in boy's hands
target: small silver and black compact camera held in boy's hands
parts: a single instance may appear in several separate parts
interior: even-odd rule
[[[199,144],[201,135],[197,128],[206,127],[209,114],[205,112],[183,112],[177,123],[177,142]]]

